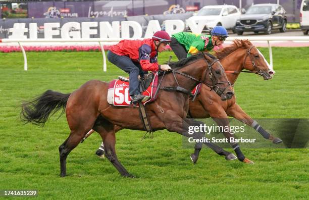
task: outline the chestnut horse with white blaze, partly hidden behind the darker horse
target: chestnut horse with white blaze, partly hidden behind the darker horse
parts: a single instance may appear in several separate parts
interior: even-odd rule
[[[221,64],[227,73],[227,77],[231,83],[235,83],[238,75],[244,69],[255,74],[263,76],[264,80],[269,80],[275,73],[270,69],[269,64],[265,60],[262,53],[255,48],[249,40],[234,40],[233,44],[217,51],[215,56],[220,60]],[[233,117],[249,126],[256,129],[264,138],[270,139],[273,143],[282,142],[281,139],[274,137],[265,131],[258,122],[248,116],[236,103],[234,95],[228,101],[221,101],[208,86],[202,85],[200,94],[195,101],[190,101],[189,116],[191,118],[213,118],[213,120],[223,127],[229,127],[228,116]],[[227,138],[233,137],[229,131],[224,132]],[[245,163],[253,163],[240,151],[237,143],[231,143],[237,158]],[[196,147],[194,154],[191,154],[191,159],[195,163],[198,159],[200,148]]]

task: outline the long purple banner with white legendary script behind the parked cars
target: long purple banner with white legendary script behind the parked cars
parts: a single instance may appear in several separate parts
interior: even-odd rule
[[[241,2],[241,8],[248,9],[252,4],[276,4],[277,0],[242,0]],[[280,0],[279,3],[287,12],[288,22],[299,21],[301,0]],[[240,8],[239,0],[42,1],[20,3],[20,5],[27,5],[28,10],[25,10],[22,6],[14,9],[13,6],[10,6],[11,3],[0,4],[3,5],[2,11],[0,11],[3,18],[28,16],[28,18],[91,17],[111,19],[114,17],[185,13],[197,11],[203,6],[209,5],[227,4]],[[23,11],[27,13],[23,14]]]

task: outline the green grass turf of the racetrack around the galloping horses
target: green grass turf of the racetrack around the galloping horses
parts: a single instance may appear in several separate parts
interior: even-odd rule
[[[268,49],[261,48],[268,59]],[[162,53],[163,63],[172,55]],[[308,199],[308,149],[243,149],[255,162],[225,161],[202,149],[192,165],[192,149],[182,147],[176,133],[157,131],[117,133],[118,158],[137,178],[122,178],[108,160],[94,152],[98,134],[79,144],[67,159],[61,178],[58,146],[67,138],[65,116],[54,116],[44,128],[19,120],[20,104],[53,89],[72,92],[90,79],[111,80],[126,75],[108,63],[102,72],[100,52],[0,54],[0,190],[36,189],[38,198],[111,199]],[[309,49],[273,48],[276,75],[264,81],[242,74],[236,84],[238,104],[253,118],[308,118]],[[174,56],[175,58],[175,56]],[[232,151],[229,149],[229,151]]]

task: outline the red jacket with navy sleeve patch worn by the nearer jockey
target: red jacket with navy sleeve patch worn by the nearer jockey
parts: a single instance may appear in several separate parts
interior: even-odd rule
[[[121,40],[113,45],[111,52],[119,56],[127,56],[133,61],[139,61],[144,71],[158,71],[158,52],[152,39]]]

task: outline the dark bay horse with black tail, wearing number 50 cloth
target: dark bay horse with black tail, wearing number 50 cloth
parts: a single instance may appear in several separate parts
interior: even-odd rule
[[[149,123],[153,130],[167,129],[186,137],[202,138],[202,133],[188,133],[188,127],[196,124],[186,119],[189,109],[190,92],[198,83],[216,88],[221,99],[229,99],[234,92],[227,80],[220,62],[210,54],[198,54],[193,57],[172,63],[173,73],[161,76],[161,86],[155,102],[146,105]],[[115,151],[115,125],[143,130],[136,107],[114,107],[107,102],[109,83],[91,80],[83,84],[71,94],[62,94],[47,90],[32,102],[22,105],[21,117],[26,123],[44,125],[49,114],[65,108],[66,117],[71,133],[59,146],[61,176],[66,176],[66,159],[88,130],[93,128],[104,141],[105,155],[122,176],[132,177],[121,165]],[[183,92],[162,90],[163,87],[182,87]],[[187,92],[184,92],[187,91]],[[160,109],[159,109],[160,108]],[[162,112],[162,110],[164,112]],[[204,144],[228,156],[231,153],[219,146],[205,142]]]

